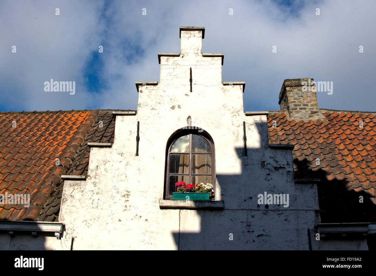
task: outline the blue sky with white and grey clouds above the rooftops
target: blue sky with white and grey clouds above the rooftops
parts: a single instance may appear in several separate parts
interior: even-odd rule
[[[224,53],[222,80],[246,81],[245,111],[279,110],[283,80],[305,77],[333,81],[320,108],[376,111],[375,11],[344,0],[2,0],[0,111],[135,110],[135,81],[159,81],[157,53],[180,52],[179,26],[205,27],[203,53]],[[45,92],[51,78],[76,93]]]

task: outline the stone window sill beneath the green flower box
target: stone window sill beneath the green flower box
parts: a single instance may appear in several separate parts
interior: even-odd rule
[[[185,201],[160,199],[161,209],[201,209],[201,210],[223,210],[223,201]]]

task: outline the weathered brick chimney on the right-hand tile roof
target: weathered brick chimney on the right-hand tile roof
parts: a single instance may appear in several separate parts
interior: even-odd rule
[[[284,80],[278,103],[281,110],[287,110],[290,119],[297,122],[324,119],[318,110],[316,86],[312,81],[313,78]]]

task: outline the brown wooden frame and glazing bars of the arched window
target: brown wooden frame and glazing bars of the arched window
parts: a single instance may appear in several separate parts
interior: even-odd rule
[[[176,142],[177,139],[180,137],[186,136],[189,134],[189,151],[188,152],[170,152],[172,145]],[[208,143],[210,147],[210,153],[208,152],[203,152],[203,153],[197,153],[197,152],[192,152],[192,140],[193,140],[193,135],[197,135]],[[187,173],[170,173],[170,154],[185,154],[189,155],[189,167],[188,167],[188,174]],[[202,155],[207,155],[211,154],[211,174],[205,174],[205,173],[192,173],[192,155],[193,154],[202,154]],[[168,185],[169,185],[169,179],[170,175],[184,175],[188,176],[188,183],[192,183],[192,176],[211,176],[211,184],[213,184],[213,192],[212,196],[210,199],[212,201],[215,200],[215,150],[214,150],[214,143],[210,139],[209,135],[206,135],[205,133],[199,133],[197,130],[196,131],[181,131],[177,134],[175,134],[170,141],[167,144],[167,150],[166,150],[166,166],[165,166],[165,189],[164,189],[164,199],[171,199],[172,196],[168,195]],[[197,184],[197,183],[195,183]]]

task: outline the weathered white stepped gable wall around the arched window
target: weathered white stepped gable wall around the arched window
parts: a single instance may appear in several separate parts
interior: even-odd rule
[[[64,249],[72,237],[74,249],[308,249],[317,187],[294,184],[291,150],[269,148],[266,116],[244,115],[242,86],[222,84],[221,58],[203,57],[201,41],[201,31],[181,32],[181,54],[161,57],[158,85],[139,87],[136,116],[117,116],[112,148],[92,148],[86,180],[65,181]],[[188,116],[214,140],[215,198],[224,210],[159,208],[166,144]],[[265,191],[289,194],[289,207],[258,206]]]

